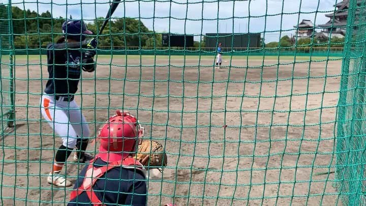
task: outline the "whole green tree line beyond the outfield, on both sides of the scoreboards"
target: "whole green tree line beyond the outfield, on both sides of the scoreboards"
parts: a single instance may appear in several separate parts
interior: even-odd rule
[[[7,20],[7,8],[0,4],[0,24]],[[38,14],[36,11],[22,10],[18,7],[11,8],[12,30],[14,46],[16,48],[40,48],[50,42],[56,42],[62,36],[62,23],[65,18],[53,18],[49,11]],[[71,17],[71,16],[70,16]],[[8,17],[9,19],[10,17]],[[71,17],[72,18],[72,17]],[[88,30],[98,32],[104,19],[97,18],[87,22]],[[142,21],[133,18],[118,18],[106,26],[99,38],[99,46],[105,49],[124,49],[126,47],[161,47],[162,34],[148,30]],[[1,25],[0,25],[1,27]],[[1,32],[1,31],[0,31]],[[90,37],[92,38],[92,37]],[[281,48],[282,50],[297,47],[343,47],[344,38],[301,38],[297,41],[289,36],[284,36],[279,42],[264,43],[261,38],[260,47]],[[201,42],[194,42],[194,47],[205,46],[205,38]]]

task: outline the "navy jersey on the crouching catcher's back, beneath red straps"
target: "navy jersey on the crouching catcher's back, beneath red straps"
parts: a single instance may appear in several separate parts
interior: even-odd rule
[[[98,165],[107,165],[107,163],[98,158],[94,165],[98,167]],[[82,184],[87,167],[88,165],[80,172],[74,186],[75,190]],[[142,172],[140,173],[135,169],[114,167],[97,180],[93,190],[98,199],[108,206],[117,204],[146,205],[146,179]],[[70,200],[68,206],[89,205],[89,202],[87,194],[83,192],[75,199]]]

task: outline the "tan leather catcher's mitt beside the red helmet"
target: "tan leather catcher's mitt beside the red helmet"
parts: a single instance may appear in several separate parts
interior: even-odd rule
[[[143,140],[138,146],[136,159],[147,169],[162,169],[168,163],[163,145],[150,140]]]

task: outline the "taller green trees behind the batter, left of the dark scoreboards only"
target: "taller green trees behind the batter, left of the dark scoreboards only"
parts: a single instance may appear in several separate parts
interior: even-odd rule
[[[6,11],[4,5],[0,5],[0,11]],[[63,17],[53,18],[49,11],[38,14],[18,7],[12,7],[11,11],[12,33],[16,48],[45,47],[52,41],[56,42],[63,35],[62,24],[65,21]],[[86,22],[88,30],[97,34],[103,21],[104,19],[100,17],[93,22]],[[161,34],[148,30],[140,20],[125,17],[109,21],[99,38],[99,46],[102,48],[112,46],[116,49],[131,46],[160,47],[162,37]]]

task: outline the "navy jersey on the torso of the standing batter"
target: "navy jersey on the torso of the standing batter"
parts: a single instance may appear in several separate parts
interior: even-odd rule
[[[52,43],[47,45],[47,49],[49,79],[44,92],[48,95],[74,95],[81,76],[80,50],[56,50]]]

